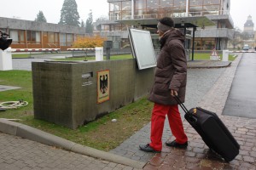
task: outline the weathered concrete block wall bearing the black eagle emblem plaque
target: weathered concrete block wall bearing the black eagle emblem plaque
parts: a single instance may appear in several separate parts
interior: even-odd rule
[[[109,70],[110,99],[97,104],[97,71]],[[89,79],[82,78],[90,73]],[[84,82],[91,85],[82,86]],[[34,116],[76,128],[148,94],[154,68],[138,70],[135,59],[93,62],[33,62]]]

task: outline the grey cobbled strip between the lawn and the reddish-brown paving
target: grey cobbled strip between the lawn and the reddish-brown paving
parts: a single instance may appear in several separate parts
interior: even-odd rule
[[[195,62],[201,64],[201,62]],[[215,61],[213,62],[215,63]],[[228,67],[227,69],[230,69],[230,67]],[[198,105],[203,96],[207,94],[207,92],[212,88],[213,84],[218,81],[218,77],[220,77],[225,70],[226,68],[189,69],[185,105],[188,108]],[[148,112],[148,115],[150,114],[151,112]],[[184,113],[182,112],[182,118],[183,115]],[[162,140],[165,142],[167,139],[170,138],[171,135],[172,132],[166,119],[166,125],[164,127]],[[133,160],[147,162],[149,159],[151,159],[152,156],[154,156],[154,154],[145,153],[142,150],[138,150],[138,145],[149,143],[149,136],[150,122],[141,130],[132,135],[129,139],[126,139],[122,144],[120,144],[117,148],[111,150],[110,152],[117,154],[119,156],[125,156]]]

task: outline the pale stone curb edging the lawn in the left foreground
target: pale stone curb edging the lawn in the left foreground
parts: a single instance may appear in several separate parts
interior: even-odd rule
[[[21,138],[30,139],[42,144],[57,146],[61,149],[73,151],[85,156],[91,156],[105,161],[111,161],[130,167],[135,167],[137,169],[143,169],[143,167],[147,164],[147,162],[134,161],[124,156],[118,156],[106,151],[96,150],[82,144],[76,144],[72,141],[62,139],[53,134],[45,133],[44,131],[38,130],[37,128],[29,127],[19,122],[11,122],[3,118],[0,118],[0,131],[3,133],[19,136]]]

